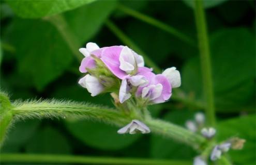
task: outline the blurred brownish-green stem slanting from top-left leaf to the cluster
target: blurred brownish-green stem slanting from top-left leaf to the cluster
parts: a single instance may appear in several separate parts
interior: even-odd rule
[[[78,61],[80,62],[82,60],[82,56],[79,53],[79,41],[77,40],[76,36],[72,33],[70,30],[67,21],[61,14],[54,15],[52,17],[46,17],[44,20],[49,21],[52,23],[60,32],[62,35],[63,39],[66,41],[68,44],[70,50],[72,51],[73,55],[76,56]]]

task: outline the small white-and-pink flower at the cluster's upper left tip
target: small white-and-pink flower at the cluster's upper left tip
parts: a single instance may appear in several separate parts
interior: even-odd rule
[[[79,71],[81,73],[86,73],[86,68],[93,69],[96,67],[96,63],[94,58],[91,55],[95,55],[96,57],[100,58],[102,51],[106,47],[99,48],[96,43],[89,42],[86,44],[86,48],[80,48],[79,52],[81,52],[85,58],[83,58],[81,65],[79,67]]]

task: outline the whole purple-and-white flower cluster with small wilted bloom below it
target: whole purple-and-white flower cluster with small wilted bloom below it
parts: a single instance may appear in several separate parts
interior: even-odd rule
[[[155,74],[153,69],[144,66],[143,57],[127,46],[100,48],[96,43],[90,42],[86,44],[86,48],[80,48],[79,51],[85,56],[79,71],[86,73],[79,80],[79,84],[92,96],[111,92],[118,95],[117,102],[120,104],[130,101],[143,107],[168,101],[172,88],[180,86],[180,74],[175,67],[163,71],[162,74]],[[132,128],[127,128],[121,133],[132,134],[135,127],[141,130],[139,122],[132,123]],[[146,129],[144,133],[149,131]]]

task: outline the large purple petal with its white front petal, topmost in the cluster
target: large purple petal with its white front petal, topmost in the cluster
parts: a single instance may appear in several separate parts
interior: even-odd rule
[[[102,51],[101,60],[118,78],[135,75],[144,66],[143,57],[127,46],[111,46]]]

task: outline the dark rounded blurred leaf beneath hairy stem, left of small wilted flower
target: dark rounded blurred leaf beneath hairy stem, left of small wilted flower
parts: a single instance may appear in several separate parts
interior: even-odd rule
[[[119,150],[135,142],[140,135],[119,135],[117,127],[92,121],[70,121],[66,126],[71,134],[91,147]]]

